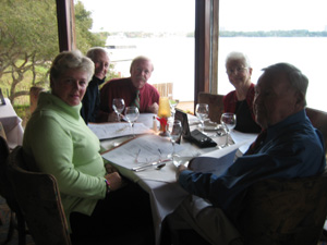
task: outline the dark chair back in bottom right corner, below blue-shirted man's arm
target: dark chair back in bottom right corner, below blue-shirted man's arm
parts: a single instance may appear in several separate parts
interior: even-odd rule
[[[252,185],[237,226],[251,245],[316,245],[327,216],[327,174]]]

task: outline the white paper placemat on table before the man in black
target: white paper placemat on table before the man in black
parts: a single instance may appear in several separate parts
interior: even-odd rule
[[[133,130],[131,128],[129,123],[89,123],[88,124],[89,130],[95,133],[95,135],[99,139],[106,139],[106,138],[114,138],[114,137],[121,137],[125,135],[133,134]],[[143,123],[134,123],[134,134],[148,134],[153,133],[150,128],[145,126]]]

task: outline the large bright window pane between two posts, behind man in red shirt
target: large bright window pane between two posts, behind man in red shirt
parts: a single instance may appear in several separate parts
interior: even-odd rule
[[[80,0],[92,12],[93,32],[108,32],[114,71],[130,76],[133,58],[146,56],[149,84],[161,96],[193,101],[195,0]]]

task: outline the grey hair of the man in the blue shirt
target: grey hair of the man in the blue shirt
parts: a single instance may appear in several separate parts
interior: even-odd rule
[[[308,86],[308,79],[298,68],[289,63],[276,63],[263,69],[263,71],[269,73],[286,74],[291,87],[295,89],[295,91],[299,91],[303,95],[303,106],[306,106],[305,96]]]

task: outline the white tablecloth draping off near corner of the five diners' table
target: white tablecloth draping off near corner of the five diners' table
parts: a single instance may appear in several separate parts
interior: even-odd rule
[[[193,117],[194,119],[195,117]],[[195,123],[196,124],[196,123]],[[191,126],[193,130],[194,125]],[[238,135],[238,132],[234,132]],[[213,139],[217,142],[218,146],[226,143],[226,136],[215,136],[215,132],[208,132],[209,136],[213,136]],[[241,140],[244,140],[247,136],[242,134]],[[250,142],[252,142],[253,135],[249,135]],[[102,140],[101,146],[105,149],[111,149],[116,146],[117,143],[123,143],[128,139],[131,139],[130,136],[123,138],[113,138],[108,140]],[[237,143],[237,142],[235,142]],[[217,147],[203,148],[199,149],[194,144],[182,142],[183,146],[182,151],[179,152],[181,156],[194,157],[210,152]],[[132,149],[131,149],[132,150]],[[106,157],[105,157],[106,158]],[[109,159],[110,160],[110,159]],[[160,231],[161,222],[169,213],[173,212],[175,208],[181,204],[181,201],[187,196],[187,193],[175,182],[175,167],[170,162],[161,170],[156,170],[155,168],[149,168],[142,172],[134,172],[131,169],[123,168],[119,163],[116,167],[120,170],[121,174],[129,177],[130,180],[138,183],[150,196],[152,212],[155,223],[156,232],[156,244],[160,243]],[[165,175],[165,181],[155,181],[149,179],[154,177],[158,173]],[[170,177],[167,177],[170,175]],[[169,181],[168,181],[169,180]]]

